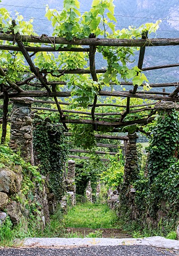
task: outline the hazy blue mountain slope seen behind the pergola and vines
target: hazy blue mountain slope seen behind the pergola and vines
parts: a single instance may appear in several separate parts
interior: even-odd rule
[[[80,0],[80,3],[80,10],[84,12],[90,9],[92,0]],[[2,0],[0,6],[10,11],[12,17],[14,17],[16,11],[22,14],[25,19],[33,17],[36,33],[52,35],[50,22],[44,17],[46,4],[51,9],[62,10],[63,7],[62,0]],[[117,19],[116,27],[118,29],[140,26],[143,23],[162,19],[157,34],[153,34],[151,37],[179,37],[178,0],[114,0],[114,4]],[[158,66],[179,62],[178,47],[147,47],[143,66]],[[138,59],[138,53],[136,59]],[[100,61],[97,61],[96,67],[101,68]],[[167,68],[165,70],[146,71],[145,74],[150,83],[177,82],[179,69]]]

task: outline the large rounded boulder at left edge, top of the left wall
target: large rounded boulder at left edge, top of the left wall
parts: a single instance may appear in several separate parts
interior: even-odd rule
[[[12,195],[21,188],[21,167],[18,166],[13,171],[8,167],[0,169],[0,191]]]

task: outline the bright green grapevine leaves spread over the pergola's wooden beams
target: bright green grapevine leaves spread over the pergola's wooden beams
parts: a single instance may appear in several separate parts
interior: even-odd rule
[[[29,21],[24,21],[21,14],[16,13],[15,22],[12,21],[10,13],[5,9],[0,9],[0,30],[1,33],[15,35],[32,35],[38,36],[36,34],[36,29],[33,28],[33,19]],[[90,35],[99,38],[118,38],[118,39],[136,39],[141,38],[142,35],[148,31],[148,34],[156,33],[159,27],[160,20],[156,23],[146,23],[140,27],[129,26],[128,29],[123,28],[121,30],[116,29],[116,19],[115,19],[115,6],[113,0],[93,0],[91,9],[84,13],[80,13],[80,3],[78,0],[64,0],[63,10],[58,12],[57,10],[52,10],[49,6],[46,6],[45,17],[52,23],[53,36],[65,37],[69,42],[75,38],[89,38]],[[0,41],[0,44],[5,44],[13,46],[16,44],[9,41]],[[63,48],[65,50],[71,49],[73,47],[79,49],[82,46],[76,45],[62,45],[56,44],[55,39],[51,44],[42,43],[30,43],[25,42],[24,46],[30,47],[40,47],[40,46],[50,46],[58,50]],[[93,104],[95,95],[99,93],[100,90],[105,90],[106,86],[110,86],[111,90],[114,91],[120,85],[120,81],[131,81],[133,85],[143,86],[143,90],[149,90],[150,86],[148,84],[147,77],[142,73],[141,69],[137,66],[132,67],[134,62],[134,53],[139,51],[139,47],[115,47],[115,46],[97,46],[96,56],[98,60],[104,59],[106,61],[106,72],[97,74],[96,81],[93,81],[91,74],[66,74],[65,72],[59,73],[61,70],[74,70],[83,69],[89,70],[89,52],[83,50],[81,52],[75,51],[56,51],[56,52],[34,52],[30,56],[36,69],[40,71],[41,76],[45,81],[58,82],[56,85],[57,91],[71,91],[71,97],[64,98],[67,102],[66,109],[73,110],[83,110],[88,111],[88,106]],[[8,81],[15,82],[23,90],[46,90],[38,81],[38,78],[34,76],[27,65],[24,56],[21,51],[15,50],[0,50],[1,60],[0,66],[5,70],[6,76],[0,75],[0,85],[5,85],[8,87]],[[101,62],[101,61],[100,61]],[[21,81],[29,81],[21,85]],[[113,86],[115,85],[115,86]],[[51,85],[48,85],[49,89]],[[122,87],[125,90],[125,87]],[[131,98],[131,105],[142,105],[143,99]],[[145,100],[148,101],[149,100]],[[121,97],[100,97],[98,95],[98,102],[105,103],[109,105],[111,103],[118,105],[126,105],[126,98]],[[145,103],[148,103],[145,102]],[[150,102],[149,102],[150,103]],[[53,106],[56,108],[56,106]],[[124,108],[112,106],[98,107],[99,113],[112,112],[115,111],[120,113],[123,112]],[[140,118],[150,114],[148,111],[143,113],[129,113],[125,117],[125,121],[130,121],[132,119]],[[53,113],[53,118],[56,120],[59,118],[59,114]],[[83,118],[83,114],[71,114],[69,113],[69,118],[71,116],[77,118]],[[58,117],[57,117],[58,116]],[[108,119],[104,118],[104,121],[109,119],[119,120],[118,115],[108,115]]]

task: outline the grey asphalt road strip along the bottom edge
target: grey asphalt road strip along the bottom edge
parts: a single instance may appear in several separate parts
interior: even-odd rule
[[[176,256],[178,251],[169,251],[145,245],[82,246],[66,248],[0,248],[1,256]]]

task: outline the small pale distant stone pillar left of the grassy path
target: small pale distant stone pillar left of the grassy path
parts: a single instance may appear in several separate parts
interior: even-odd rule
[[[76,186],[75,186],[75,161],[69,160],[67,179],[66,179],[66,191],[71,195],[72,205],[76,204]]]

